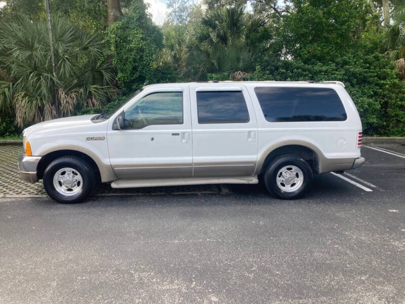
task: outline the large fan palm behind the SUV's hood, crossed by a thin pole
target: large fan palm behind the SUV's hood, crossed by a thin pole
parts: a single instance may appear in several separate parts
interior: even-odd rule
[[[62,116],[72,115],[78,107],[102,104],[115,92],[99,36],[65,18],[53,18],[52,36],[56,77],[45,20],[21,17],[0,28],[0,113],[15,114],[19,126],[56,117],[54,83]]]

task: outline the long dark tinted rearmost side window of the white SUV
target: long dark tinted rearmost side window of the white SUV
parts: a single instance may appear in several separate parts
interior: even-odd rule
[[[345,121],[345,108],[329,88],[256,87],[255,93],[269,122]]]

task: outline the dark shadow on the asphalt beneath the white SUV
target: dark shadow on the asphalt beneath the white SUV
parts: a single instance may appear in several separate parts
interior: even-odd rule
[[[218,188],[221,188],[217,185]],[[295,205],[295,204],[347,204],[364,199],[364,193],[332,174],[314,175],[312,185],[304,197],[296,200],[282,200],[272,197],[260,182],[255,185],[228,184],[227,191],[218,193],[169,193],[159,192],[159,187],[145,188],[146,192],[138,195],[94,195],[78,204],[59,204],[50,198],[35,199],[36,204],[44,206],[62,206],[57,208],[93,209],[105,208],[132,208],[132,207],[165,207],[165,206],[257,206],[257,205]],[[170,187],[166,187],[170,188]],[[173,190],[178,191],[178,187]],[[170,189],[169,189],[170,190]],[[168,190],[167,190],[168,191]],[[377,192],[367,193],[367,195]],[[382,193],[380,193],[382,195]]]

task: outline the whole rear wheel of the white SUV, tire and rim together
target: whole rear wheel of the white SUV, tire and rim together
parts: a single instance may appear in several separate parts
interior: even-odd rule
[[[311,167],[296,155],[285,155],[275,159],[264,173],[264,184],[267,190],[281,199],[301,197],[311,182]]]

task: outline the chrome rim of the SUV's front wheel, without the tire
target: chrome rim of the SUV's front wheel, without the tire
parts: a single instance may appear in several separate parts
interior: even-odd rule
[[[83,178],[78,171],[72,168],[58,170],[53,178],[54,187],[61,195],[72,196],[83,188]]]

